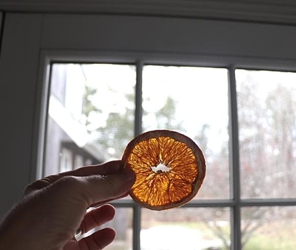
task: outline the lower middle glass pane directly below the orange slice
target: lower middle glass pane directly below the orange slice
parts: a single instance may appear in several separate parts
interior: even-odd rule
[[[229,208],[142,209],[141,250],[230,249]]]

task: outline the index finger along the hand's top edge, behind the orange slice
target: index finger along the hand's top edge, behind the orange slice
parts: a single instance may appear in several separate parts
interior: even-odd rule
[[[24,195],[31,193],[32,191],[42,189],[50,184],[53,184],[57,180],[64,176],[91,176],[97,174],[98,176],[105,176],[107,174],[116,173],[121,169],[122,161],[109,161],[101,165],[91,165],[80,167],[75,170],[53,174],[52,176],[44,177],[40,180],[32,182],[24,189]]]

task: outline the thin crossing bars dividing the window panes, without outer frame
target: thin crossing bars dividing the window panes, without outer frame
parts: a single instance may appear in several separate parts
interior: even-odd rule
[[[135,136],[142,132],[142,69],[144,62],[137,61],[136,87],[135,87]],[[241,199],[240,198],[240,172],[239,172],[239,138],[237,116],[237,92],[235,80],[235,65],[228,68],[228,101],[229,101],[229,160],[230,160],[230,198],[206,199],[191,201],[184,208],[230,208],[231,249],[241,249],[241,208],[259,206],[296,206],[296,198],[266,198]],[[140,249],[141,207],[130,200],[114,201],[115,207],[133,208],[133,249]]]

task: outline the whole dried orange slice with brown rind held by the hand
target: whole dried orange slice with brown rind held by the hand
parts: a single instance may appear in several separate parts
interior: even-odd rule
[[[122,156],[136,173],[130,196],[152,210],[180,207],[200,189],[206,174],[201,149],[178,132],[155,130],[134,138]]]

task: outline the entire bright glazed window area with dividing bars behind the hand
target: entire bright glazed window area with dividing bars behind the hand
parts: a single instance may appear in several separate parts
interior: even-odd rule
[[[130,198],[114,202],[109,226],[117,236],[107,249],[229,249],[234,240],[243,249],[296,247],[289,200],[296,193],[296,73],[54,63],[51,74],[45,162],[56,158],[53,145],[65,144],[80,153],[75,167],[82,156],[94,164],[118,159],[135,135],[154,129],[184,133],[205,154],[205,182],[184,207],[155,212]],[[63,103],[67,89],[81,93],[81,86],[75,105]]]

